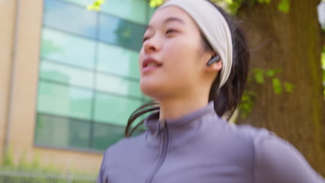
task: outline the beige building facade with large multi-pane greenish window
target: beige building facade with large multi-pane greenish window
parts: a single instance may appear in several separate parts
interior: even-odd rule
[[[138,53],[147,0],[0,0],[0,158],[96,172],[147,99]]]

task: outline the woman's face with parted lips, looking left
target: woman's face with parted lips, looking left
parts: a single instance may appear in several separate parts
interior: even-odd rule
[[[156,99],[184,96],[206,79],[213,51],[203,46],[199,27],[181,8],[157,10],[144,33],[139,56],[140,88]]]

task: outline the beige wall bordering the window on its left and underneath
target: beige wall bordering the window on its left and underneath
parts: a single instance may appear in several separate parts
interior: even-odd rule
[[[65,170],[97,173],[101,163],[101,154],[33,146],[43,1],[21,0],[19,2],[16,59],[13,64],[13,77],[11,77],[9,68],[13,63],[11,53],[15,32],[13,29],[15,1],[0,0],[2,33],[0,34],[0,149],[3,150],[5,114],[8,110],[8,102],[10,102],[10,147],[15,164],[23,156],[28,162],[37,157],[41,166],[51,165]],[[12,84],[11,101],[8,101],[9,83]],[[1,157],[2,154],[1,151]]]

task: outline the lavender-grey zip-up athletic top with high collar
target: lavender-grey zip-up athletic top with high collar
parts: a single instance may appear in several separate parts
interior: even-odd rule
[[[101,183],[324,183],[287,141],[264,128],[231,125],[213,102],[176,120],[145,121],[147,132],[110,146]]]

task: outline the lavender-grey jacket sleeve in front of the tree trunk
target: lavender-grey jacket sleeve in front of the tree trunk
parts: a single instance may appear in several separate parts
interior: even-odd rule
[[[256,183],[325,183],[294,146],[267,130],[256,135],[254,148]]]

